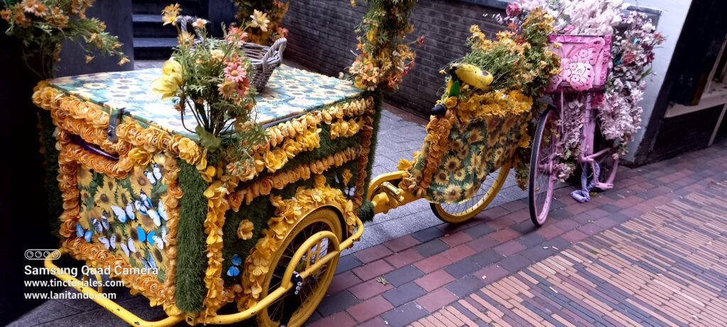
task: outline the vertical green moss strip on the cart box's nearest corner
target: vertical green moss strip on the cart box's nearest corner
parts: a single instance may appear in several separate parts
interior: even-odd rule
[[[206,288],[204,270],[207,267],[206,235],[204,220],[207,215],[207,198],[204,197],[206,182],[197,169],[180,160],[177,176],[182,187],[180,220],[177,225],[177,290],[174,298],[177,307],[184,312],[202,310]]]

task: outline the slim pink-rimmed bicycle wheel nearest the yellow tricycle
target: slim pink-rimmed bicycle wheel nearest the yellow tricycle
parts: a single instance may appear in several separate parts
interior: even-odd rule
[[[530,219],[542,226],[550,211],[555,189],[555,145],[558,142],[558,113],[548,108],[540,116],[530,156],[528,200]]]

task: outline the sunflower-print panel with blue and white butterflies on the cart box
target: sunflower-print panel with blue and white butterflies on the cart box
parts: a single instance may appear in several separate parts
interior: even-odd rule
[[[129,265],[165,279],[166,185],[164,155],[149,166],[134,167],[125,179],[108,177],[86,167],[78,169],[81,217],[76,236],[99,243]]]

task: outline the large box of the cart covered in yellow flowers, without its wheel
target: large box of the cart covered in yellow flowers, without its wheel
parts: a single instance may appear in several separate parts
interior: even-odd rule
[[[281,66],[256,98],[268,144],[254,149],[246,178],[229,179],[206,162],[190,121],[150,91],[160,73],[56,78],[33,101],[55,125],[62,248],[111,268],[167,314],[206,322],[224,304],[244,309],[265,295],[269,253],[301,212],[330,204],[341,239],[353,232],[377,100]]]

